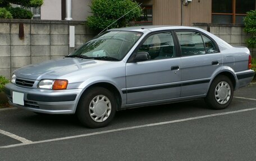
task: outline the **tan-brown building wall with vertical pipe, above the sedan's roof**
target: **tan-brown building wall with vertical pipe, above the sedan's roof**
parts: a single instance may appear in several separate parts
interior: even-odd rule
[[[183,24],[211,23],[211,11],[212,0],[193,0],[183,6]],[[153,25],[181,25],[181,17],[181,0],[153,1]]]

